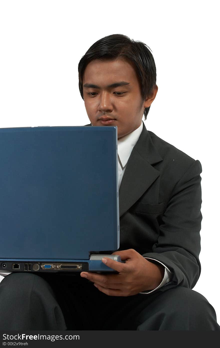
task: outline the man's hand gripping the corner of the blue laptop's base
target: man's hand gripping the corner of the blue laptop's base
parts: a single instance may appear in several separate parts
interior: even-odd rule
[[[144,259],[134,249],[117,251],[112,255],[119,255],[122,261],[126,260],[125,263],[108,257],[104,257],[102,262],[119,274],[81,272],[80,276],[91,280],[101,292],[109,296],[136,295],[142,291],[153,290],[162,282],[164,266]]]

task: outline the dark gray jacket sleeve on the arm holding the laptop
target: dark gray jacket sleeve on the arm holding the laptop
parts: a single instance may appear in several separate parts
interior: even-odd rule
[[[201,272],[202,166],[195,160],[175,184],[151,253],[143,254],[164,263],[173,273],[164,290],[177,285],[193,288]],[[166,288],[166,289],[165,289]]]

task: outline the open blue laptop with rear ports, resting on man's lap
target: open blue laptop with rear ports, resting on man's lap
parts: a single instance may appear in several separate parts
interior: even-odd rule
[[[0,272],[112,272],[117,127],[0,128]]]

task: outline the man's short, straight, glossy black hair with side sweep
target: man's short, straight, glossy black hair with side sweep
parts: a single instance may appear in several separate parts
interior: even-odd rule
[[[152,92],[156,85],[156,66],[150,48],[141,41],[131,40],[122,34],[112,34],[96,41],[79,61],[79,91],[82,99],[82,77],[88,63],[95,59],[116,59],[124,58],[134,67],[141,89],[141,106],[144,100]],[[144,109],[145,120],[149,108]]]

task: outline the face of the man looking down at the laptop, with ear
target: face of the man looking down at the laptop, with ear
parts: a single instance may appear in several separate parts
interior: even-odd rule
[[[113,84],[117,85],[111,86]],[[136,72],[130,63],[121,58],[90,62],[84,71],[82,85],[91,124],[117,126],[118,139],[141,125],[144,108],[150,106],[157,94],[156,89],[141,106]]]

